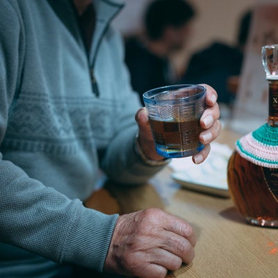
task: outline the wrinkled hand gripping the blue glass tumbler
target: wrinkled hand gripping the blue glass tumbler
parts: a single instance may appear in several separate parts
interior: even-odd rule
[[[206,110],[204,111],[200,124],[204,131],[199,136],[199,141],[205,145],[204,149],[195,156],[192,157],[193,162],[196,164],[202,163],[211,149],[210,143],[218,138],[221,131],[221,122],[219,119],[220,112],[217,104],[218,95],[211,86],[201,84],[206,87]],[[136,113],[136,122],[139,128],[139,142],[142,152],[145,156],[154,161],[163,160],[162,156],[156,154],[154,147],[154,140],[152,137],[151,127],[149,126],[149,120],[147,117],[146,108],[140,108]]]

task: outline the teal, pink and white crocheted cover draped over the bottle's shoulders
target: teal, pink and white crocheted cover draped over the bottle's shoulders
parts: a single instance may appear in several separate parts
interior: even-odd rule
[[[236,151],[256,165],[278,168],[278,128],[264,124],[237,140]]]

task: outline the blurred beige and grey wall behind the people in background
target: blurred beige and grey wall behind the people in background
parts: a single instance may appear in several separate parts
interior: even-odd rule
[[[126,6],[115,20],[115,27],[123,35],[140,31],[145,6],[152,0],[123,0]],[[202,49],[215,40],[235,44],[240,17],[254,6],[256,0],[188,0],[197,11],[193,22],[192,40],[173,63],[183,68],[193,51]]]

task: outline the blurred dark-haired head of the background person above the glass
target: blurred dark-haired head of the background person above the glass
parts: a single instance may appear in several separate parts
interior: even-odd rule
[[[184,0],[155,0],[145,13],[145,31],[152,41],[163,41],[169,51],[183,47],[195,10]]]

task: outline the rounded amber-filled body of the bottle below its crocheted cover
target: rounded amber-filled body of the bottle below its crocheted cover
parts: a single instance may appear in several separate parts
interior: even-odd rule
[[[234,204],[248,222],[278,227],[278,169],[255,165],[234,152],[228,164],[228,185]]]

